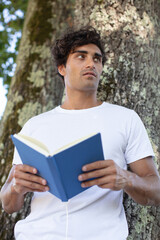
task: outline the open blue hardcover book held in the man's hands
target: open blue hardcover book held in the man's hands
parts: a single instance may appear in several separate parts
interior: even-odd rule
[[[104,160],[100,133],[77,140],[50,154],[46,146],[22,134],[11,135],[23,164],[35,167],[38,175],[46,179],[49,192],[63,202],[85,191],[78,175],[82,166]]]

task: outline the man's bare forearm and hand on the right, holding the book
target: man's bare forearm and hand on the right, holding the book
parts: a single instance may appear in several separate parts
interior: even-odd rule
[[[123,189],[139,204],[160,205],[160,177],[152,157],[131,163],[130,169],[132,172],[120,168],[113,160],[97,161],[83,166],[82,170],[87,173],[78,179],[82,187]],[[90,178],[97,179],[86,181]]]

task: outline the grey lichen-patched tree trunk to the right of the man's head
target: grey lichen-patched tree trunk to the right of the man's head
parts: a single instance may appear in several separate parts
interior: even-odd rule
[[[76,9],[75,23],[90,23],[105,40],[99,98],[140,115],[160,168],[160,1],[81,0]],[[124,204],[128,239],[159,240],[160,208],[140,206],[126,195]]]

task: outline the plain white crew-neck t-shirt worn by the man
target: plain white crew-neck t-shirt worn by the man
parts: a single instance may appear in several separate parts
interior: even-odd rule
[[[117,105],[66,110],[60,106],[30,119],[23,134],[42,141],[51,152],[91,133],[100,132],[105,159],[121,168],[153,156],[144,125],[133,111]],[[34,159],[33,159],[34,161]],[[21,163],[15,151],[14,164]],[[93,186],[66,203],[49,192],[35,192],[31,213],[15,226],[17,240],[124,240],[128,227],[122,205],[123,191]]]

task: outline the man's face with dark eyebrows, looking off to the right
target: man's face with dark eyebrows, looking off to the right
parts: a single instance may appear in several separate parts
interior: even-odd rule
[[[58,67],[65,87],[77,91],[96,91],[102,73],[102,53],[95,44],[76,47],[67,59],[66,66]]]

